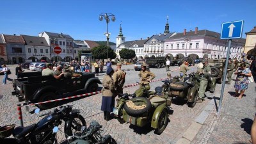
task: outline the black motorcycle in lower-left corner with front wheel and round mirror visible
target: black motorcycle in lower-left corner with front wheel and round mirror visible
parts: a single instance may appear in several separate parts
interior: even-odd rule
[[[40,110],[36,109],[35,113]],[[52,132],[54,126],[61,125],[61,120],[65,121],[65,133],[72,136],[73,132],[80,131],[82,126],[86,126],[83,116],[73,112],[72,106],[60,106],[60,109],[54,109],[53,112],[45,113],[45,116],[37,124],[28,127],[12,127],[8,129],[8,134],[0,136],[0,143],[14,143],[13,138],[7,138],[11,134],[15,138],[15,143],[22,144],[57,144],[56,133]],[[14,128],[14,129],[13,129]],[[4,129],[3,129],[4,130]],[[1,133],[1,131],[0,131]]]

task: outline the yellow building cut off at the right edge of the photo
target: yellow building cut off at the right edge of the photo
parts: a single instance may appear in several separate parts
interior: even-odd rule
[[[248,56],[256,56],[256,26],[246,34],[244,53]]]

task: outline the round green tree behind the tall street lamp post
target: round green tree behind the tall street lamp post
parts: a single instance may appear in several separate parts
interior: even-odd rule
[[[92,56],[95,59],[106,59],[107,58],[107,46],[99,45],[98,47],[92,48]],[[108,47],[108,58],[114,59],[116,58],[116,53]]]

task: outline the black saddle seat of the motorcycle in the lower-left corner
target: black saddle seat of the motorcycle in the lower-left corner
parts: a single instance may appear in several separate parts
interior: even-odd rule
[[[26,136],[29,132],[32,131],[32,129],[35,127],[36,124],[29,125],[28,127],[15,127],[13,130],[12,135],[14,138],[20,139]]]

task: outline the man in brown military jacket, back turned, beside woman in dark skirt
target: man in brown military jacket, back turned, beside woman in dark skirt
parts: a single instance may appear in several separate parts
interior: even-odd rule
[[[116,95],[118,95],[118,93],[123,93],[123,86],[125,83],[126,72],[122,71],[121,67],[122,63],[117,63],[115,73],[113,74],[113,83],[117,92]]]

